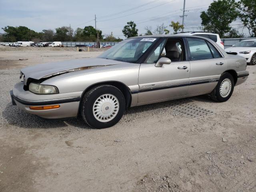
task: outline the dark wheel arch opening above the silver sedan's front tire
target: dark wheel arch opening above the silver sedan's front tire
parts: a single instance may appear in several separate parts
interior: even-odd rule
[[[128,88],[128,86],[126,86],[126,84],[120,82],[120,81],[104,81],[104,82],[97,82],[95,84],[92,84],[90,86],[88,86],[82,93],[81,95],[81,99],[80,99],[80,103],[79,103],[79,109],[80,109],[80,106],[81,106],[81,100],[84,96],[84,94],[90,90],[91,88],[93,87],[96,87],[96,86],[100,86],[100,85],[112,85],[112,86],[115,86],[116,88],[118,88],[122,94],[124,95],[124,98],[125,98],[125,104],[126,104],[126,108],[130,107],[131,105],[131,102],[132,102],[132,93],[131,93],[131,90],[130,88]],[[78,110],[78,113],[79,113],[80,110]]]

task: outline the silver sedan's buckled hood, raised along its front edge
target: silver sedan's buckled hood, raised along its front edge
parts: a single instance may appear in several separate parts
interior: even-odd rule
[[[102,66],[111,66],[117,64],[127,64],[126,62],[108,60],[102,58],[86,58],[77,60],[68,60],[60,62],[49,62],[45,64],[38,64],[21,69],[21,76],[24,74],[26,80],[28,78],[42,79],[50,78],[59,74],[68,72],[86,70],[89,68],[96,68]]]

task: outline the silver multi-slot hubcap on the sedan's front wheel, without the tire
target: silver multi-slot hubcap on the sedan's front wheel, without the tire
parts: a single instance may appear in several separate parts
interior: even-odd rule
[[[112,94],[104,94],[94,102],[92,112],[100,122],[109,122],[115,118],[119,110],[119,102]]]

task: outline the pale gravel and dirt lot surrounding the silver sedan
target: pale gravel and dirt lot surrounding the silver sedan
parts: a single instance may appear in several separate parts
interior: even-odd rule
[[[21,67],[98,54],[0,51],[1,192],[256,191],[256,66],[228,102],[197,96],[134,107],[102,130],[12,106]]]

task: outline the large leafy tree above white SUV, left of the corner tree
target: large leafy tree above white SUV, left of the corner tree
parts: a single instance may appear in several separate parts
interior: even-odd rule
[[[235,0],[217,0],[210,4],[208,10],[200,15],[205,30],[220,35],[231,30],[231,22],[238,17],[237,3]]]

